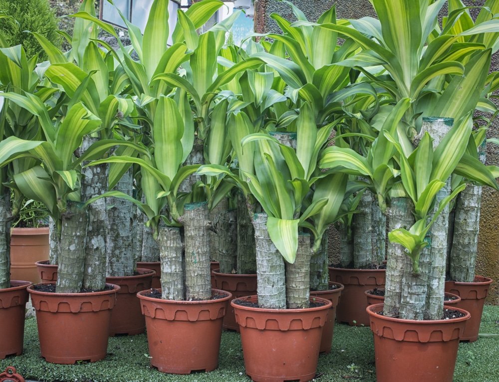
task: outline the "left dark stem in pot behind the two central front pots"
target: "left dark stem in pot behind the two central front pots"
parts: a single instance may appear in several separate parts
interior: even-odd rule
[[[218,216],[218,259],[220,273],[236,273],[238,251],[238,211],[236,208],[220,212]],[[210,241],[210,245],[211,245]]]

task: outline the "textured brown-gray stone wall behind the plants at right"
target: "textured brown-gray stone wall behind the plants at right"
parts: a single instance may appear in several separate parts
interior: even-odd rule
[[[334,3],[338,18],[360,18],[363,16],[375,17],[374,9],[369,0],[291,0],[301,9],[309,21],[316,21],[319,16]],[[485,0],[464,0],[467,6],[479,6]],[[277,12],[286,19],[294,20],[291,7],[276,0],[255,1],[255,31],[258,33],[280,32],[276,23],[269,15]],[[478,9],[471,9],[472,17],[476,17]],[[442,9],[442,15],[447,14],[446,6]],[[492,57],[491,71],[499,70],[499,53]],[[498,102],[494,100],[494,102]],[[499,120],[496,119],[490,127],[488,138],[499,137]],[[499,166],[499,147],[487,144],[487,164]],[[331,260],[338,253],[338,235],[334,229],[329,231],[329,252]],[[480,234],[478,245],[478,259],[476,274],[494,279],[487,302],[499,304],[499,194],[498,191],[484,187],[482,195]]]

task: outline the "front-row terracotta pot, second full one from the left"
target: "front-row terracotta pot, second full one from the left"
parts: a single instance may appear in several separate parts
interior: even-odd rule
[[[212,289],[225,297],[202,301],[173,301],[137,293],[146,317],[151,365],[160,372],[190,374],[211,372],[219,362],[222,323],[232,295]]]

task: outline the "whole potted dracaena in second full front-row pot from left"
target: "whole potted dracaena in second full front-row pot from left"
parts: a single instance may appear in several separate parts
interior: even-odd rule
[[[230,298],[230,293],[211,288],[208,203],[203,200],[203,189],[189,181],[199,165],[188,163],[193,162],[190,159],[193,148],[200,143],[202,147],[202,141],[207,137],[209,112],[220,87],[241,70],[260,62],[253,59],[236,64],[221,71],[215,81],[211,75],[204,75],[201,66],[208,65],[206,57],[212,60],[210,62],[216,62],[214,43],[225,35],[226,25],[221,23],[199,37],[196,28],[220,5],[219,1],[203,1],[185,14],[179,12],[179,24],[173,32],[174,44],[169,48],[169,30],[164,23],[168,17],[168,2],[153,2],[144,36],[139,37],[139,32],[129,24],[134,48],[142,52],[139,59],[144,66],[136,65],[125,54],[123,67],[128,73],[137,72],[140,78],[147,78],[146,86],[140,81],[134,82],[137,76],[130,76],[137,101],[142,103],[141,100],[148,99],[139,105],[139,112],[146,117],[150,151],[140,153],[138,158],[113,155],[90,164],[127,163],[140,167],[144,201],[120,191],[109,191],[88,203],[102,197],[122,197],[135,203],[147,216],[147,224],[152,228],[160,250],[161,291],[143,291],[137,296],[150,336],[151,364],[167,373],[189,374],[192,370],[210,371],[217,367],[222,320]],[[112,26],[88,14],[78,16],[92,19],[115,33]],[[186,70],[192,70],[192,76],[187,78],[192,78],[193,83],[179,75],[178,69],[183,63]],[[221,193],[221,196],[225,194]],[[213,197],[208,197],[208,201],[214,204]],[[160,342],[158,337],[162,338]],[[202,350],[194,357],[193,349]]]

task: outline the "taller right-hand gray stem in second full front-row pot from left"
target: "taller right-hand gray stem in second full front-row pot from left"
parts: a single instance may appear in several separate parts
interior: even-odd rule
[[[208,203],[189,203],[180,219],[184,225],[186,300],[212,297]]]

